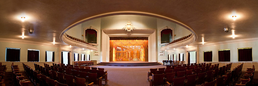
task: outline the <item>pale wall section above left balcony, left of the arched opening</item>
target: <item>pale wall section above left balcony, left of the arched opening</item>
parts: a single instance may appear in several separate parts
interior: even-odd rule
[[[83,40],[83,31],[81,30],[82,24],[79,24],[71,29],[69,29],[67,32],[65,32],[66,34],[68,34],[69,36],[78,38],[80,40]]]

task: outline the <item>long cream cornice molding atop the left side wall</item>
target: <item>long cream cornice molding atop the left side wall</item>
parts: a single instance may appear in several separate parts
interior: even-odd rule
[[[19,44],[31,44],[31,45],[48,46],[48,47],[59,48],[59,45],[54,45],[54,44],[50,44],[50,43],[42,43],[42,42],[35,42],[35,41],[28,41],[28,40],[19,40],[19,39],[10,39],[10,38],[0,38],[0,42],[10,42],[10,43],[19,43]]]

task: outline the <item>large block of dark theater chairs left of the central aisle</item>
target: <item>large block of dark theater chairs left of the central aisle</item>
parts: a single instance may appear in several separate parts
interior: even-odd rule
[[[79,66],[76,66],[76,65],[75,66],[69,65],[69,66],[56,67],[55,64],[53,64],[53,66],[49,67],[48,64],[44,64],[44,65],[46,65],[46,68],[40,67],[40,68],[42,68],[42,69],[40,69],[42,71],[39,71],[39,72],[41,73],[41,76],[49,77],[49,80],[52,79],[50,82],[52,85],[54,84],[53,80],[55,80],[56,84],[62,83],[62,84],[67,84],[69,86],[70,85],[71,86],[80,86],[81,85],[80,83],[82,83],[83,79],[90,82],[89,85],[92,85],[93,83],[98,84],[98,82],[96,82],[96,81],[91,82],[91,81],[94,81],[95,74],[97,74],[96,79],[97,79],[97,77],[99,77],[99,75],[102,74],[102,76],[104,77],[103,79],[105,79],[105,84],[107,85],[107,71],[104,72],[104,69],[102,69],[102,68],[92,67],[90,69],[90,67],[83,67],[83,66],[80,66],[80,68],[78,68]],[[64,69],[64,71],[63,71],[63,69]],[[99,70],[97,70],[97,69],[99,69]],[[51,70],[51,71],[49,71],[49,70]],[[88,73],[88,72],[90,72],[90,73]],[[88,75],[91,75],[91,73],[93,74],[93,77],[92,76],[88,77]],[[73,81],[71,82],[71,76],[73,76],[72,79],[77,78],[78,80],[82,80],[82,81],[75,80],[75,82],[73,82]],[[98,81],[102,82],[102,77],[101,77],[101,79],[99,79],[99,78],[98,78]],[[43,79],[45,79],[45,78],[43,78]],[[44,82],[44,80],[43,80],[43,82]],[[46,83],[40,83],[40,84],[45,85]],[[101,85],[101,83],[99,83],[99,84]]]

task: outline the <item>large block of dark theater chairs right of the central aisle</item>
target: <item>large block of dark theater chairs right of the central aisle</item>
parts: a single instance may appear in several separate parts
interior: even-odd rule
[[[198,66],[195,66],[195,67],[198,67]],[[206,66],[206,67],[210,67],[210,66]],[[149,76],[152,76],[153,78],[155,78],[155,76],[153,76],[153,75],[163,76],[162,74],[164,74],[165,81],[172,83],[171,81],[173,81],[173,78],[176,78],[176,79],[179,79],[181,77],[187,78],[187,76],[191,77],[190,75],[195,74],[195,77],[197,76],[198,78],[197,79],[189,78],[190,82],[187,81],[187,83],[186,83],[186,86],[191,86],[193,84],[193,82],[195,82],[195,81],[196,81],[196,83],[194,83],[194,85],[202,84],[202,83],[204,83],[204,81],[215,82],[216,81],[215,77],[218,77],[218,72],[219,72],[218,68],[216,68],[215,70],[213,70],[213,68],[208,68],[209,70],[206,70],[205,67],[203,67],[202,69],[201,68],[190,69],[190,67],[187,68],[185,66],[181,66],[181,67],[175,67],[174,69],[172,69],[171,67],[167,66],[167,68],[165,69],[165,72],[164,72],[164,69],[165,68],[160,68],[159,71],[157,71],[157,69],[150,69],[150,71],[152,71],[152,72],[148,72],[148,80],[151,79],[151,78],[149,78]],[[224,68],[224,69],[227,70],[226,68]],[[155,72],[153,72],[153,70]],[[195,70],[195,71],[193,71],[193,70]],[[204,71],[202,72],[201,70],[204,70]],[[150,73],[151,73],[151,75],[150,75]],[[221,73],[221,74],[223,74],[223,73]],[[231,73],[229,73],[229,74],[231,74]],[[227,77],[227,76],[225,76],[225,77]],[[214,81],[213,81],[213,79],[214,79]],[[155,79],[155,80],[158,80],[158,79]],[[164,80],[164,79],[162,79],[162,80]],[[161,80],[160,84],[162,84],[162,80]],[[224,79],[224,75],[222,75],[222,77],[219,77],[217,80],[218,81],[225,80],[226,82],[228,82],[230,79],[227,79],[227,78]],[[191,81],[193,81],[193,82],[191,82]],[[150,85],[157,84],[157,81],[155,81],[155,82],[156,83],[153,83],[153,81],[150,80]],[[164,84],[164,82],[163,82],[163,84]],[[177,82],[176,82],[176,84],[177,84]],[[170,85],[170,84],[168,84],[168,85]]]

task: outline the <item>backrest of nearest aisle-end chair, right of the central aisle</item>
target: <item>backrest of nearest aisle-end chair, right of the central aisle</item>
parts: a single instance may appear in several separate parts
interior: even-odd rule
[[[152,79],[153,79],[153,85],[163,85],[164,84],[164,77],[165,74],[153,74]]]

